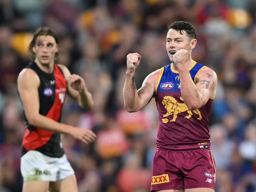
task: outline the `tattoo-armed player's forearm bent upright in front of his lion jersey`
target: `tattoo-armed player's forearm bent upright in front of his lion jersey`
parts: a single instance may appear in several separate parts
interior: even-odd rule
[[[181,95],[190,110],[201,107],[200,91],[197,89],[189,70],[179,70]]]

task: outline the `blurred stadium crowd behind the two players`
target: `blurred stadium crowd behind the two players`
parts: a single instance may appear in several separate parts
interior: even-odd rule
[[[17,75],[39,26],[60,37],[58,63],[85,79],[95,106],[82,111],[66,98],[62,122],[93,130],[85,146],[64,135],[80,192],[148,192],[158,117],[152,100],[128,113],[122,86],[126,55],[142,55],[137,87],[169,63],[167,24],[191,22],[193,58],[215,70],[217,95],[210,120],[217,165],[216,192],[256,191],[256,0],[1,0],[0,191],[20,192],[20,146],[25,131]]]

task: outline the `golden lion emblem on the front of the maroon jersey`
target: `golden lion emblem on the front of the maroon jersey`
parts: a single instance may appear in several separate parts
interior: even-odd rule
[[[182,97],[180,97],[180,100],[184,101]],[[187,119],[189,119],[193,115],[191,110],[188,109],[188,107],[185,103],[178,103],[177,100],[175,98],[173,98],[172,96],[164,96],[163,100],[162,100],[162,104],[165,107],[165,109],[167,110],[167,113],[164,114],[163,117],[167,117],[167,116],[173,114],[173,119],[170,120],[170,122],[174,122],[176,120],[178,114],[182,113],[182,112],[188,113],[188,115],[185,116],[185,118],[187,118]],[[193,112],[195,114],[199,115],[199,117],[197,118],[198,120],[202,119],[201,113],[198,109],[193,110]],[[167,123],[167,122],[169,122],[169,119],[163,118],[162,122]]]

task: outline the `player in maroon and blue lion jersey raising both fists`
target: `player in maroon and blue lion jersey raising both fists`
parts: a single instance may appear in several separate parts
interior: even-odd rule
[[[196,31],[188,22],[168,25],[166,50],[171,63],[149,74],[138,90],[134,75],[141,55],[127,55],[125,109],[139,111],[153,97],[158,109],[151,191],[213,192],[215,188],[208,122],[217,75],[193,61],[195,38]]]

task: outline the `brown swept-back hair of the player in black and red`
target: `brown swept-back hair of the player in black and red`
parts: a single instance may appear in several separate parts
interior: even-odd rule
[[[34,61],[35,60],[35,53],[33,52],[33,46],[35,46],[35,42],[38,36],[40,35],[49,35],[52,36],[55,41],[56,44],[59,44],[59,39],[58,36],[56,35],[56,33],[50,29],[49,27],[39,27],[35,30],[35,33],[33,34],[33,39],[30,42],[30,45],[28,46],[28,52],[30,53],[30,58]],[[58,57],[58,52],[55,54],[55,58]]]

